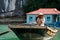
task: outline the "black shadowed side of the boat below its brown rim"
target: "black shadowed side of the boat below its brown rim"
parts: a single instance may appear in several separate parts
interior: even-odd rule
[[[15,29],[11,28],[20,40],[42,40],[45,34],[45,30],[42,29]]]

